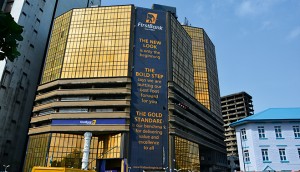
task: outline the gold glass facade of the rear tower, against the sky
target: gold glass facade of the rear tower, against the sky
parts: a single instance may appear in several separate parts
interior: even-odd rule
[[[183,26],[192,38],[195,98],[221,116],[215,46],[202,28]]]

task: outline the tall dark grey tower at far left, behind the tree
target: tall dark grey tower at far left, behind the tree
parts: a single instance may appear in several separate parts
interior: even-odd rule
[[[2,61],[0,71],[0,164],[21,171],[27,143],[28,124],[35,92],[55,16],[74,7],[95,4],[92,0],[4,0],[0,8],[10,12],[23,26],[21,55],[14,62]],[[1,171],[2,169],[0,169]]]

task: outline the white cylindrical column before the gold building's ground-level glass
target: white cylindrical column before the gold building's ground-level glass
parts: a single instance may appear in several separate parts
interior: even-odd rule
[[[88,169],[91,139],[92,139],[92,133],[85,132],[84,133],[84,147],[83,147],[83,155],[82,155],[82,164],[81,164],[81,169],[83,169],[83,170]]]

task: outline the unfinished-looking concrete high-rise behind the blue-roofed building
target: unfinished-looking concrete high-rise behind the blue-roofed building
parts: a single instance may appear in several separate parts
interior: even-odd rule
[[[239,92],[221,97],[228,164],[231,171],[239,170],[238,149],[234,128],[230,124],[254,113],[252,97]]]

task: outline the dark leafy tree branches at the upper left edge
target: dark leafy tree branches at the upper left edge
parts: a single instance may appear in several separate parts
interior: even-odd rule
[[[14,61],[20,56],[17,41],[22,41],[23,26],[18,25],[10,13],[0,11],[0,60]]]

